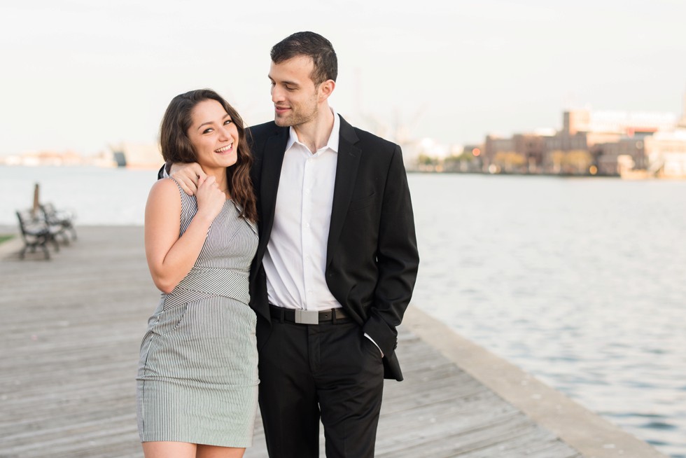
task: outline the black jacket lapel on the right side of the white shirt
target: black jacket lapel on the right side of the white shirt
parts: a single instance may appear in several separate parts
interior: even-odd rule
[[[353,127],[341,117],[339,133],[338,159],[336,164],[336,183],[333,188],[331,223],[326,244],[326,267],[331,263],[333,247],[338,242],[353,195],[357,168],[360,165],[362,150],[356,147],[357,134]]]

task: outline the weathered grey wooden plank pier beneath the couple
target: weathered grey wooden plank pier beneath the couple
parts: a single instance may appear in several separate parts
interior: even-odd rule
[[[159,293],[140,227],[78,228],[50,261],[0,244],[0,457],[142,457],[141,337]],[[411,305],[377,457],[663,457]],[[323,436],[321,438],[323,456]],[[246,458],[267,457],[262,426]]]

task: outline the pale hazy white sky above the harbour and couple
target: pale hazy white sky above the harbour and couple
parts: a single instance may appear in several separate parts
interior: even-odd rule
[[[685,0],[5,1],[0,154],[152,143],[197,88],[269,120],[269,49],[300,30],[337,51],[331,105],[387,137],[477,142],[570,106],[680,114],[685,20]]]

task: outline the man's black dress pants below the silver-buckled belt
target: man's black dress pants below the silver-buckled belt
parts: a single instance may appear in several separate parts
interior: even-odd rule
[[[384,366],[353,321],[295,324],[272,319],[260,349],[260,411],[270,458],[372,458]]]

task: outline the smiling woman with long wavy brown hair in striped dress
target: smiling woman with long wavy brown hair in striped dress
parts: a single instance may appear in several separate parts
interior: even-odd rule
[[[172,179],[146,205],[148,267],[162,299],[138,372],[147,458],[242,457],[252,445],[258,370],[248,272],[258,244],[252,157],[235,109],[211,90],[178,95],[160,130],[167,162],[198,162],[189,196]]]

